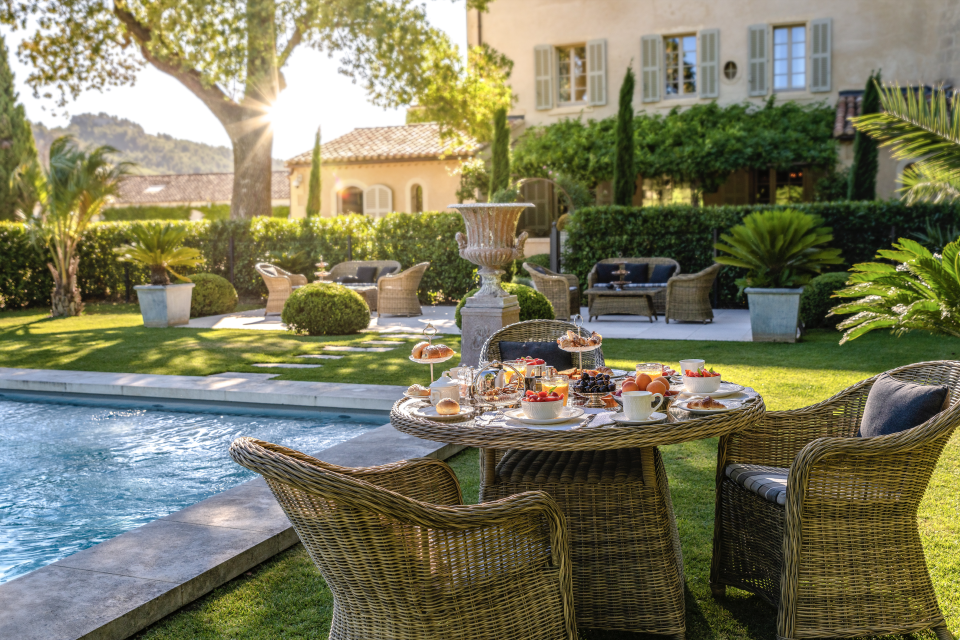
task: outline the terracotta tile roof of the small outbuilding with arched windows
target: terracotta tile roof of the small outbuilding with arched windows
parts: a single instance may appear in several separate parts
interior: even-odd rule
[[[435,160],[442,155],[469,156],[480,145],[473,138],[463,144],[450,144],[440,138],[435,122],[405,124],[395,127],[354,129],[321,145],[324,164],[369,162],[376,160]],[[313,150],[287,160],[286,165],[310,164]]]

